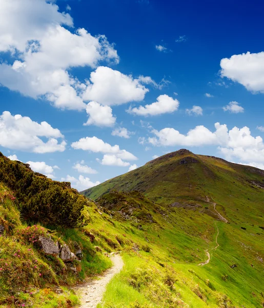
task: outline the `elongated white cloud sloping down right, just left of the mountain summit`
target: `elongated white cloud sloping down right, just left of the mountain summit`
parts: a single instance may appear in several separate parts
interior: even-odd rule
[[[97,137],[81,138],[79,141],[73,142],[71,146],[74,149],[82,149],[95,153],[115,154],[116,157],[124,160],[136,160],[137,158],[126,150],[121,150],[118,145],[111,146]]]

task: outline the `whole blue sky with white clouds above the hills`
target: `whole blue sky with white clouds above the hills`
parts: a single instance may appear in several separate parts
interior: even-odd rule
[[[261,1],[0,5],[4,155],[79,190],[180,148],[264,169]]]

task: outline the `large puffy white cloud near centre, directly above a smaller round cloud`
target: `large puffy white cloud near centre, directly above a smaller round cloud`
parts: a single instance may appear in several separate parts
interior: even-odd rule
[[[149,91],[142,83],[138,79],[133,79],[132,75],[100,66],[91,72],[83,99],[108,106],[142,101]]]

